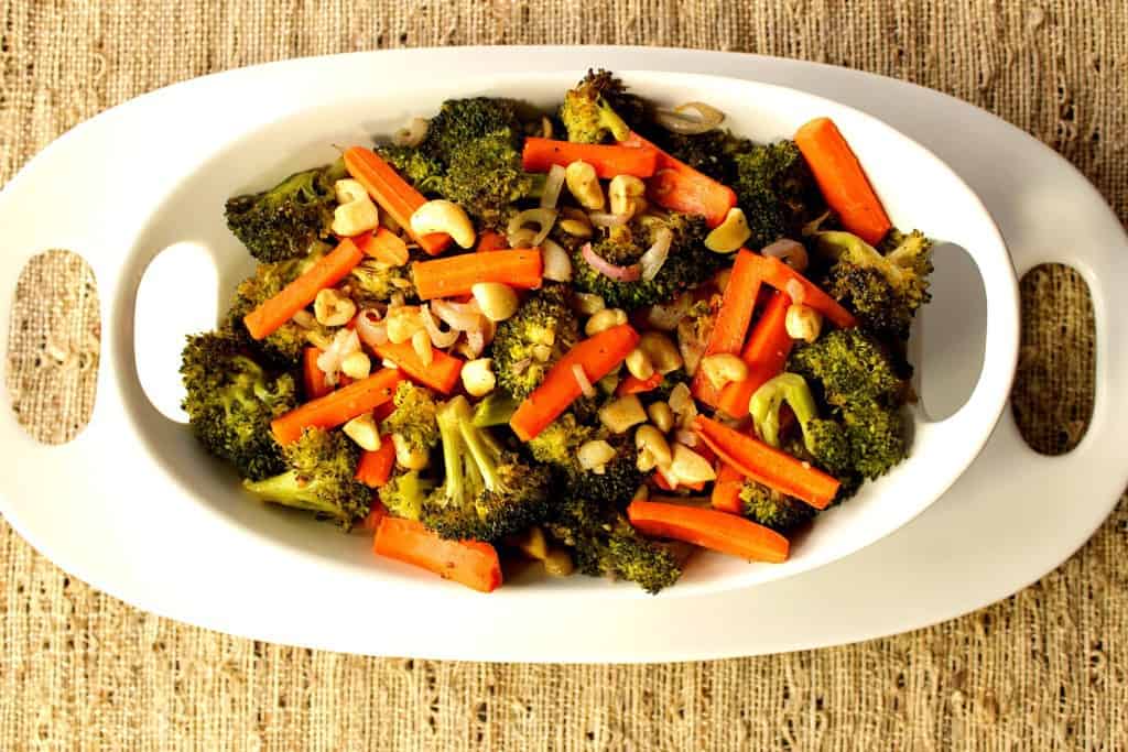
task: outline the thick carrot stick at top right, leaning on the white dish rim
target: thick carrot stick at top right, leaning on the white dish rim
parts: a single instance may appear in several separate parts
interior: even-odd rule
[[[807,123],[795,132],[795,145],[843,227],[871,246],[881,242],[892,222],[834,121],[817,117]]]

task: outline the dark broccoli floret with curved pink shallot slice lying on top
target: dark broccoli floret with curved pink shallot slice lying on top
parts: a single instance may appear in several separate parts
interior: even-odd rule
[[[583,257],[582,249],[572,254],[572,284],[581,292],[603,298],[610,308],[634,310],[642,306],[672,300],[679,293],[710,278],[725,263],[725,257],[705,247],[707,228],[699,216],[670,214],[644,215],[629,224],[613,228],[592,244],[592,251],[616,266],[640,263],[643,254],[663,232],[672,233],[666,263],[653,278],[640,277],[619,282],[602,274]]]

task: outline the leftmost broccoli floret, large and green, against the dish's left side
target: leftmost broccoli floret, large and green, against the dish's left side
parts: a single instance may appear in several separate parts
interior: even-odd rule
[[[229,330],[188,337],[180,363],[187,395],[182,407],[209,452],[259,479],[285,466],[271,421],[297,405],[293,378],[272,373]]]

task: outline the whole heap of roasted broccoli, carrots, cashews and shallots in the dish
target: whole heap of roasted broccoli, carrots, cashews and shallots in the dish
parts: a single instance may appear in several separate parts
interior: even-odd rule
[[[929,241],[835,124],[754,143],[606,71],[557,112],[451,99],[228,200],[259,263],[184,350],[246,490],[481,591],[502,559],[677,582],[787,536],[908,451]]]

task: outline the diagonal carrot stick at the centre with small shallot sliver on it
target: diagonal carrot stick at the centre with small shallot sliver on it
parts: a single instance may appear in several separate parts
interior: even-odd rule
[[[521,441],[529,441],[567,409],[582,390],[572,366],[583,369],[588,381],[594,383],[611,372],[638,344],[638,333],[628,324],[605,329],[588,337],[556,362],[545,380],[529,395],[509,425]]]

